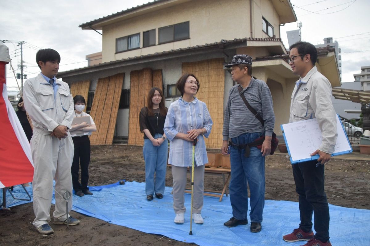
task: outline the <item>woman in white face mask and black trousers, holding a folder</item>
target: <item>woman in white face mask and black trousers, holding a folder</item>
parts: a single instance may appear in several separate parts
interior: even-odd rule
[[[73,98],[74,102],[74,117],[90,117],[90,125],[87,122],[81,124],[72,125],[70,129],[73,144],[74,144],[74,156],[71,167],[72,173],[72,184],[74,193],[80,197],[84,195],[92,195],[91,191],[87,187],[89,180],[88,167],[90,163],[90,139],[89,135],[91,132],[96,131],[96,126],[91,116],[84,112],[86,101],[81,95],[77,95]],[[74,134],[74,131],[83,131],[83,134]],[[77,136],[78,135],[78,136]],[[81,163],[81,183],[78,181],[78,169]]]

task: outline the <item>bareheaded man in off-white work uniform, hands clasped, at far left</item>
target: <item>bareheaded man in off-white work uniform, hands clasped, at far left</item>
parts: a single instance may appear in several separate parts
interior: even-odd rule
[[[57,80],[60,55],[53,49],[40,49],[36,62],[41,69],[37,77],[24,83],[24,107],[33,124],[31,139],[33,175],[33,225],[43,235],[53,233],[50,227],[50,207],[55,180],[54,224],[67,224],[65,191],[72,193],[71,165],[74,153],[71,134],[73,99],[67,83]],[[68,211],[72,207],[72,196],[68,200]],[[69,225],[80,221],[68,218]]]

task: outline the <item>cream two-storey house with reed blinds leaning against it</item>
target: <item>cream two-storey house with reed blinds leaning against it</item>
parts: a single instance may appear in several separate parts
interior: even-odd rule
[[[194,73],[201,84],[196,97],[207,104],[214,122],[206,144],[219,148],[223,111],[234,84],[223,64],[237,53],[253,57],[253,76],[270,87],[275,132],[287,122],[297,77],[287,62],[280,25],[296,20],[289,0],[157,0],[81,24],[83,30],[102,30],[101,56],[89,56],[102,63],[58,77],[73,94],[88,97],[98,127],[92,144],[111,144],[115,137],[142,145],[138,115],[149,89],[163,88],[168,106],[179,97],[177,79]],[[333,86],[340,85],[334,52],[319,53],[318,69],[325,74],[335,68],[333,76],[325,75]]]

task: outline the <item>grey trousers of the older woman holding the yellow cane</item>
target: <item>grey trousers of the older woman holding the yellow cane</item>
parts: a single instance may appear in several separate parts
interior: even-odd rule
[[[204,191],[204,165],[194,165],[193,186],[193,214],[200,214],[203,208]],[[175,214],[185,213],[185,186],[188,167],[177,167],[172,165],[172,197],[174,198]],[[192,167],[190,167],[191,180]]]

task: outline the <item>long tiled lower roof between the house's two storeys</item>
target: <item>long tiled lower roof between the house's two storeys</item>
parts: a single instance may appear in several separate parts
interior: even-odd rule
[[[128,61],[128,60],[141,59],[141,58],[147,58],[147,57],[151,57],[151,56],[164,55],[164,54],[167,54],[167,53],[184,52],[184,51],[189,51],[189,50],[194,50],[194,49],[200,49],[200,48],[206,48],[206,47],[212,47],[212,46],[218,46],[218,45],[225,45],[225,44],[231,44],[231,43],[236,43],[236,42],[246,42],[246,41],[278,41],[278,42],[281,42],[281,39],[280,38],[235,38],[233,40],[221,39],[220,42],[214,42],[214,43],[203,44],[203,45],[195,45],[195,46],[192,46],[192,47],[188,46],[186,48],[171,49],[169,51],[155,52],[155,53],[148,54],[148,55],[134,56],[134,57],[124,58],[124,59],[121,59],[121,60],[104,62],[104,63],[100,63],[100,64],[97,64],[97,65],[76,68],[76,69],[60,72],[60,73],[58,73],[58,75],[63,75],[63,73],[75,72],[77,70],[90,69],[92,67],[99,67],[99,66],[105,66],[105,65],[108,65],[108,64],[125,62],[125,61]]]

